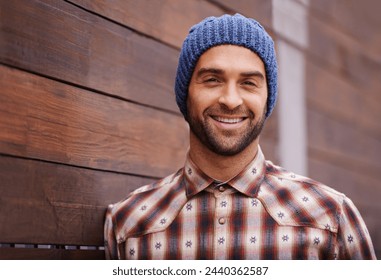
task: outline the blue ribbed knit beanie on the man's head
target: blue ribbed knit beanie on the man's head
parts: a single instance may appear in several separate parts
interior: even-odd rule
[[[240,14],[208,17],[189,30],[180,52],[175,81],[176,102],[181,113],[186,118],[188,87],[198,59],[208,49],[224,44],[248,48],[262,59],[268,89],[267,118],[277,98],[278,70],[274,42],[257,21]]]

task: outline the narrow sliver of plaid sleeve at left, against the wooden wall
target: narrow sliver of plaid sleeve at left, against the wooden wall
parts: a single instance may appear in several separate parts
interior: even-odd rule
[[[112,208],[113,205],[108,206],[104,224],[105,255],[108,260],[118,259],[118,243],[114,231]]]

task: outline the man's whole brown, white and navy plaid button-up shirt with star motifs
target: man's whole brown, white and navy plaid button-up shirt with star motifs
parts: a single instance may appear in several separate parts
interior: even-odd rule
[[[110,205],[111,259],[375,259],[352,201],[273,165],[259,149],[217,183],[187,158],[176,174]]]

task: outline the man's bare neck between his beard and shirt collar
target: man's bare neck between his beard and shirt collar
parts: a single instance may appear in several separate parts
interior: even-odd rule
[[[210,151],[191,135],[189,156],[192,161],[209,177],[225,182],[239,174],[256,156],[258,139],[245,150],[234,156],[222,156]]]

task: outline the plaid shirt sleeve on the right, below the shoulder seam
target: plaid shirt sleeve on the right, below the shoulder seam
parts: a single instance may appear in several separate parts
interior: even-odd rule
[[[339,214],[339,259],[374,260],[372,240],[360,212],[353,202],[345,197]]]

